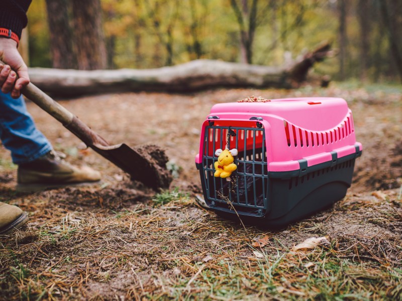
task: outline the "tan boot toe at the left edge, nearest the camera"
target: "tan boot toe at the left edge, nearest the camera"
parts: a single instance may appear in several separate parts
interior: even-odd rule
[[[0,235],[14,232],[27,220],[28,215],[20,208],[0,202]]]

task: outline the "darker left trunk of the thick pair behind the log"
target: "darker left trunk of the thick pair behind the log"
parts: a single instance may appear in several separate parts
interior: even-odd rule
[[[77,68],[77,59],[73,50],[73,38],[68,18],[68,0],[46,0],[46,10],[53,68]]]

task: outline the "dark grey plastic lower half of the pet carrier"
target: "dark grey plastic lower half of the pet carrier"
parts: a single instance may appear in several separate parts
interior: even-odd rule
[[[282,228],[326,209],[345,197],[352,183],[355,159],[360,155],[361,151],[356,145],[355,154],[337,159],[335,153],[330,162],[307,167],[307,163],[300,160],[300,170],[270,172],[267,176],[261,177],[260,185],[257,185],[254,179],[254,191],[249,194],[249,200],[246,202],[239,198],[239,189],[237,192],[230,188],[226,189],[225,182],[221,179],[210,177],[201,165],[197,168],[200,170],[205,201],[219,215],[238,220],[233,210],[235,208],[245,223],[267,228]],[[239,174],[240,177],[247,175],[246,172]],[[238,181],[238,175],[233,173],[232,177]],[[214,186],[211,183],[214,183]],[[243,185],[247,187],[247,182]],[[216,191],[220,192],[219,195],[225,197],[219,200],[216,192],[212,193],[209,187],[216,188]],[[259,191],[261,189],[262,192]],[[260,194],[261,200],[255,198]],[[254,203],[250,200],[253,196]]]

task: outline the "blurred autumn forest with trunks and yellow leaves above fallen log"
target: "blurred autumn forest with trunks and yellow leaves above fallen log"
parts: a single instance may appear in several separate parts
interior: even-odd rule
[[[28,18],[20,48],[31,67],[280,66],[329,41],[337,56],[316,73],[402,80],[400,0],[35,0]]]

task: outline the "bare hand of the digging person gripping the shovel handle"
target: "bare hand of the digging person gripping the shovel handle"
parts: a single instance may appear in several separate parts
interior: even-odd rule
[[[0,37],[0,87],[3,93],[11,92],[13,98],[21,95],[21,89],[29,84],[28,67],[17,50],[17,42]],[[17,72],[17,74],[16,74]],[[17,79],[18,75],[18,79]]]

